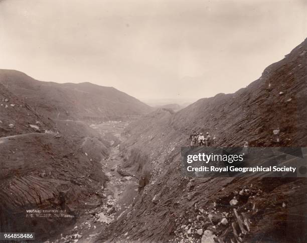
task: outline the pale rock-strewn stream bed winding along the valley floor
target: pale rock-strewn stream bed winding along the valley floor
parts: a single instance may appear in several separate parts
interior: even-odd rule
[[[123,141],[121,132],[128,123],[101,123],[91,125],[101,136],[112,133],[119,141]],[[86,141],[87,138],[85,138]],[[114,141],[108,141],[112,144]],[[103,235],[109,223],[116,220],[122,213],[131,207],[138,194],[138,179],[131,174],[125,176],[119,174],[123,158],[119,152],[119,144],[110,148],[109,156],[102,159],[101,169],[108,177],[104,187],[101,187],[104,202],[100,205],[93,203],[91,209],[82,212],[76,222],[65,228],[60,236],[50,238],[47,242],[94,242],[98,236]],[[129,174],[129,171],[125,171]],[[108,240],[106,240],[108,241]]]

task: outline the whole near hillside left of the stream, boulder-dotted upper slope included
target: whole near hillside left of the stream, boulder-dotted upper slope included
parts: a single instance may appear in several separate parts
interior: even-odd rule
[[[109,144],[85,124],[58,129],[24,101],[0,84],[0,230],[35,231],[42,242],[72,224],[84,208],[102,203],[99,192],[107,178],[99,162]],[[46,220],[43,213],[27,213],[33,209],[73,217]]]

